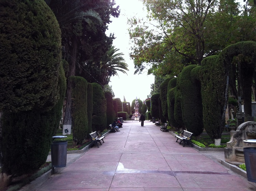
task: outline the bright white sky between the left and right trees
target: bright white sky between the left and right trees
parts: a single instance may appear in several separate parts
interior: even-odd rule
[[[124,53],[123,56],[125,62],[128,64],[129,71],[128,75],[118,72],[118,76],[112,76],[109,83],[112,86],[115,98],[120,98],[123,101],[125,99],[127,102],[132,102],[136,97],[140,100],[145,100],[147,95],[150,94],[151,84],[154,83],[154,76],[147,75],[147,70],[144,74],[134,75],[134,64],[133,60],[130,59],[130,45],[129,45],[129,34],[127,18],[131,18],[136,15],[136,17],[143,17],[146,15],[146,10],[143,11],[143,4],[139,0],[116,0],[116,6],[120,6],[120,16],[118,18],[111,18],[112,23],[109,25],[109,30],[106,34],[114,33],[116,39],[113,41],[113,45],[119,48],[118,53]]]

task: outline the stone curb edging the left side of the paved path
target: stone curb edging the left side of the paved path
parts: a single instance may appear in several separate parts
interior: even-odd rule
[[[107,136],[110,133],[110,131],[104,133],[104,136]],[[67,154],[79,154],[79,153],[83,153],[83,152],[87,152],[90,149],[91,144],[87,145],[86,147],[84,147],[81,150],[68,150]],[[49,155],[51,155],[51,152],[49,152]],[[67,163],[67,166],[71,163],[73,163],[76,159],[80,158],[76,157],[75,159],[73,159],[72,161]],[[61,167],[61,168],[55,168],[55,174],[62,171],[65,167]],[[40,177],[38,177],[37,179],[33,180],[32,182],[30,182],[29,184],[27,184],[26,186],[22,187],[21,189],[19,189],[19,191],[34,191],[35,189],[37,189],[39,186],[42,185],[42,183],[47,180],[50,176],[52,176],[52,169],[47,171],[46,173],[42,174]]]

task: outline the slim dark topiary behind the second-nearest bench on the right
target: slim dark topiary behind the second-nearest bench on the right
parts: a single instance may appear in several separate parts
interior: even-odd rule
[[[168,120],[167,90],[168,90],[169,81],[170,81],[170,78],[163,81],[163,83],[161,83],[160,85],[160,99],[162,103],[162,112],[163,112],[163,117],[166,120]]]

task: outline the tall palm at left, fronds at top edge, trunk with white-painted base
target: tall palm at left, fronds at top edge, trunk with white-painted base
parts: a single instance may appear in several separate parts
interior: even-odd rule
[[[54,12],[61,29],[67,27],[69,24],[73,26],[81,20],[88,24],[95,23],[101,25],[103,21],[94,10],[99,8],[108,9],[111,6],[110,0],[99,1],[99,3],[94,4],[92,4],[90,0],[45,0],[45,2]],[[66,38],[67,49],[71,56],[68,77],[75,75],[77,46],[80,38],[80,36],[76,34],[77,31],[71,32],[70,36]],[[67,50],[65,50],[65,52],[66,51]],[[68,80],[65,115],[63,119],[63,134],[65,134],[65,129],[68,129],[71,133],[71,124],[71,83]]]

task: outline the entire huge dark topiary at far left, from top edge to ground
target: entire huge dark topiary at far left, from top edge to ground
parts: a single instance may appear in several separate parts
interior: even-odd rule
[[[46,161],[66,79],[59,25],[43,0],[1,1],[0,25],[0,163],[16,176]]]

